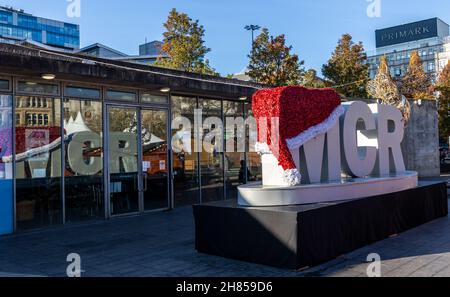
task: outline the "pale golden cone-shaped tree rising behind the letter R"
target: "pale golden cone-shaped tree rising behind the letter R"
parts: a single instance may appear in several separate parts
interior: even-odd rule
[[[378,73],[375,79],[367,83],[367,93],[369,96],[381,100],[382,104],[397,107],[403,114],[403,119],[408,122],[411,106],[398,91],[397,84],[393,81],[389,72],[386,56],[381,57]]]

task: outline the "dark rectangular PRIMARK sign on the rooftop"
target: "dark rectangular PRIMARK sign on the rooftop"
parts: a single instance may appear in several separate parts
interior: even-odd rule
[[[377,48],[438,36],[438,19],[433,18],[375,31]]]

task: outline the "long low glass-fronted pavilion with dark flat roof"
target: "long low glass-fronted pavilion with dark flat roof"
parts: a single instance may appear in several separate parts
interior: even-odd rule
[[[235,199],[259,156],[175,152],[172,120],[249,117],[258,88],[0,44],[0,234]]]

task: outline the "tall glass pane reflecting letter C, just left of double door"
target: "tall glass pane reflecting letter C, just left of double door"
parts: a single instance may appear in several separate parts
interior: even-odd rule
[[[102,103],[64,102],[66,220],[104,216]]]

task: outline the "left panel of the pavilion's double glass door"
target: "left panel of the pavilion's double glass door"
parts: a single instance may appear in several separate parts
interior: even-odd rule
[[[111,216],[137,213],[141,189],[138,108],[108,106],[108,196]]]

